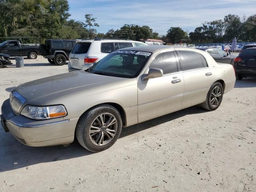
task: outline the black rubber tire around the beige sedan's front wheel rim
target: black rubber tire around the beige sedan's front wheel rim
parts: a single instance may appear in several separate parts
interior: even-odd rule
[[[97,132],[94,135],[95,139],[92,138],[93,133],[91,133],[91,135],[89,133],[90,128],[91,126],[94,125],[94,123],[96,122],[96,119],[100,116],[100,114],[104,114],[104,113],[111,114],[112,116],[114,116],[114,118],[116,118],[115,124],[109,126],[110,129],[112,129],[113,126],[115,127],[115,135],[109,141],[108,141],[108,138],[110,135],[106,135],[106,133],[104,132],[106,131],[106,129],[109,130],[107,125],[105,127],[105,124],[104,126],[101,127],[100,132]],[[111,121],[114,120],[114,118],[112,118]],[[105,116],[104,116],[104,119],[105,119]],[[106,118],[106,121],[107,120],[108,119]],[[100,122],[99,122],[99,125],[100,125]],[[105,130],[103,130],[103,127],[105,127]],[[96,106],[95,108],[92,108],[90,111],[86,112],[81,116],[76,126],[76,138],[78,142],[87,150],[92,152],[100,152],[110,148],[119,138],[121,131],[122,131],[122,118],[120,116],[120,113],[113,106],[103,104],[100,106]],[[99,139],[99,137],[101,137],[101,134],[104,135],[103,138],[105,138],[106,144],[103,144],[103,142],[102,144],[100,143],[101,138],[100,138],[99,144],[97,144],[96,138]]]

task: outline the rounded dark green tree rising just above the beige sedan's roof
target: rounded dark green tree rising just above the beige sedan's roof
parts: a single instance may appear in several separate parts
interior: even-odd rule
[[[166,36],[171,43],[177,43],[180,39],[188,39],[188,34],[180,27],[171,27]]]

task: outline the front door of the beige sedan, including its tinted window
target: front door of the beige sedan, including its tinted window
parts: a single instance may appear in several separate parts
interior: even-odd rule
[[[138,80],[138,122],[143,122],[182,107],[184,80],[174,51],[162,52],[151,62],[150,68],[160,68],[164,75]]]

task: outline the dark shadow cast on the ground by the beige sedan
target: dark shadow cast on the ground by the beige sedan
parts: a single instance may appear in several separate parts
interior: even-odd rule
[[[123,128],[120,138],[130,136],[134,133],[144,131],[148,128],[172,121],[188,114],[199,114],[207,112],[198,106],[190,107],[159,118],[155,118],[138,125]],[[5,133],[0,126],[0,172],[15,170],[34,164],[66,160],[94,154],[84,149],[75,140],[69,147],[48,146],[28,147],[18,142],[10,133]]]

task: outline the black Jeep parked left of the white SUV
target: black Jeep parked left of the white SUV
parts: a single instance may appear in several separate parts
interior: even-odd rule
[[[64,65],[75,45],[76,40],[47,39],[44,44],[40,44],[39,50],[51,64]]]

